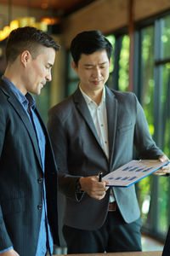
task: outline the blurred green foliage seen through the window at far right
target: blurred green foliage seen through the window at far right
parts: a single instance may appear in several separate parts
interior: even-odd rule
[[[161,149],[169,157],[170,155],[170,63],[155,64],[155,54],[157,61],[162,61],[170,56],[170,16],[159,20],[160,22],[160,48],[155,48],[154,38],[156,31],[154,26],[146,27],[142,31],[142,90],[141,103],[144,108],[146,119],[149,123],[150,133],[157,140]],[[158,80],[155,81],[155,73]],[[155,98],[156,96],[156,98]],[[158,102],[157,102],[158,101]],[[158,105],[156,105],[158,104]],[[159,106],[154,119],[154,108]],[[154,127],[158,125],[158,127]],[[155,130],[157,128],[157,134]],[[144,178],[138,183],[139,204],[142,212],[143,224],[153,226],[154,218],[156,221],[155,230],[157,233],[166,236],[169,214],[169,179],[167,177],[156,177],[157,197],[154,198],[151,192],[153,175]],[[150,218],[150,201],[155,201],[155,215]],[[150,221],[149,221],[150,220]]]

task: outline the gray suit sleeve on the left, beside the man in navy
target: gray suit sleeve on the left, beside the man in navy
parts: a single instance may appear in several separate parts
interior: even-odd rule
[[[83,193],[77,195],[76,183],[77,178],[81,176],[73,176],[69,174],[67,166],[69,139],[66,135],[63,121],[59,119],[59,114],[55,108],[48,113],[48,133],[54,149],[54,157],[59,169],[59,191],[66,197],[74,201],[80,201]]]

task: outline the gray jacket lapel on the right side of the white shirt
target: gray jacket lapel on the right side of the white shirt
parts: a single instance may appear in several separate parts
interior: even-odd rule
[[[105,86],[110,163],[113,158],[116,137],[117,101],[111,90]]]

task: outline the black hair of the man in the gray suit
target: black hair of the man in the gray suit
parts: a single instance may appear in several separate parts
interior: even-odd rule
[[[71,55],[76,65],[82,54],[90,55],[102,49],[106,50],[110,60],[112,45],[99,30],[81,32],[71,42]]]

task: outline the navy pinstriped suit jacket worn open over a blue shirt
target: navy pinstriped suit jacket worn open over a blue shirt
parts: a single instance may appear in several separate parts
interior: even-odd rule
[[[37,110],[36,110],[37,111]],[[22,256],[35,255],[42,215],[45,178],[48,222],[59,244],[57,216],[58,173],[48,132],[45,173],[42,172],[37,137],[24,108],[0,80],[0,251],[14,247]]]

